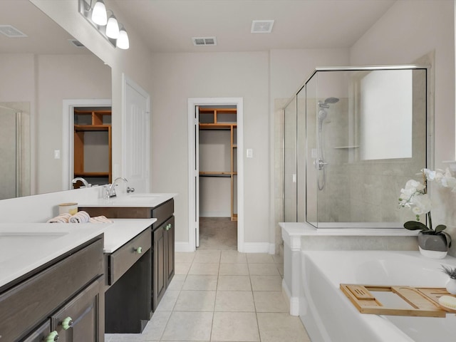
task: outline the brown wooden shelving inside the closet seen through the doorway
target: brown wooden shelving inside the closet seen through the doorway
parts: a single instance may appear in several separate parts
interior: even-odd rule
[[[237,221],[237,109],[199,108],[199,129],[230,131],[230,170],[200,171],[199,176],[231,178],[231,220]]]

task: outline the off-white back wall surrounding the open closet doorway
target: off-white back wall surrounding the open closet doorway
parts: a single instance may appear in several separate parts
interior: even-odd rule
[[[157,53],[152,57],[152,190],[178,192],[177,242],[188,242],[188,98],[244,98],[244,241],[269,242],[269,56]],[[239,123],[238,123],[239,124]]]

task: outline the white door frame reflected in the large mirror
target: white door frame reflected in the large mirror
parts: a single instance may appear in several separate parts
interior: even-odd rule
[[[62,118],[62,190],[71,190],[74,174],[74,108],[112,107],[110,98],[63,100]]]

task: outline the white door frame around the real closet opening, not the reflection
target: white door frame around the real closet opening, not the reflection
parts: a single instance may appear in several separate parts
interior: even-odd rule
[[[244,252],[244,104],[243,98],[189,98],[188,99],[188,212],[189,252],[196,249],[195,238],[195,107],[200,105],[237,106],[237,250]]]

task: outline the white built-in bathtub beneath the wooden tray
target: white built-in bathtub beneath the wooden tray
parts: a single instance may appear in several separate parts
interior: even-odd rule
[[[456,315],[446,318],[360,314],[339,284],[445,287],[440,265],[419,252],[301,252],[299,316],[312,342],[440,342],[455,341]]]

